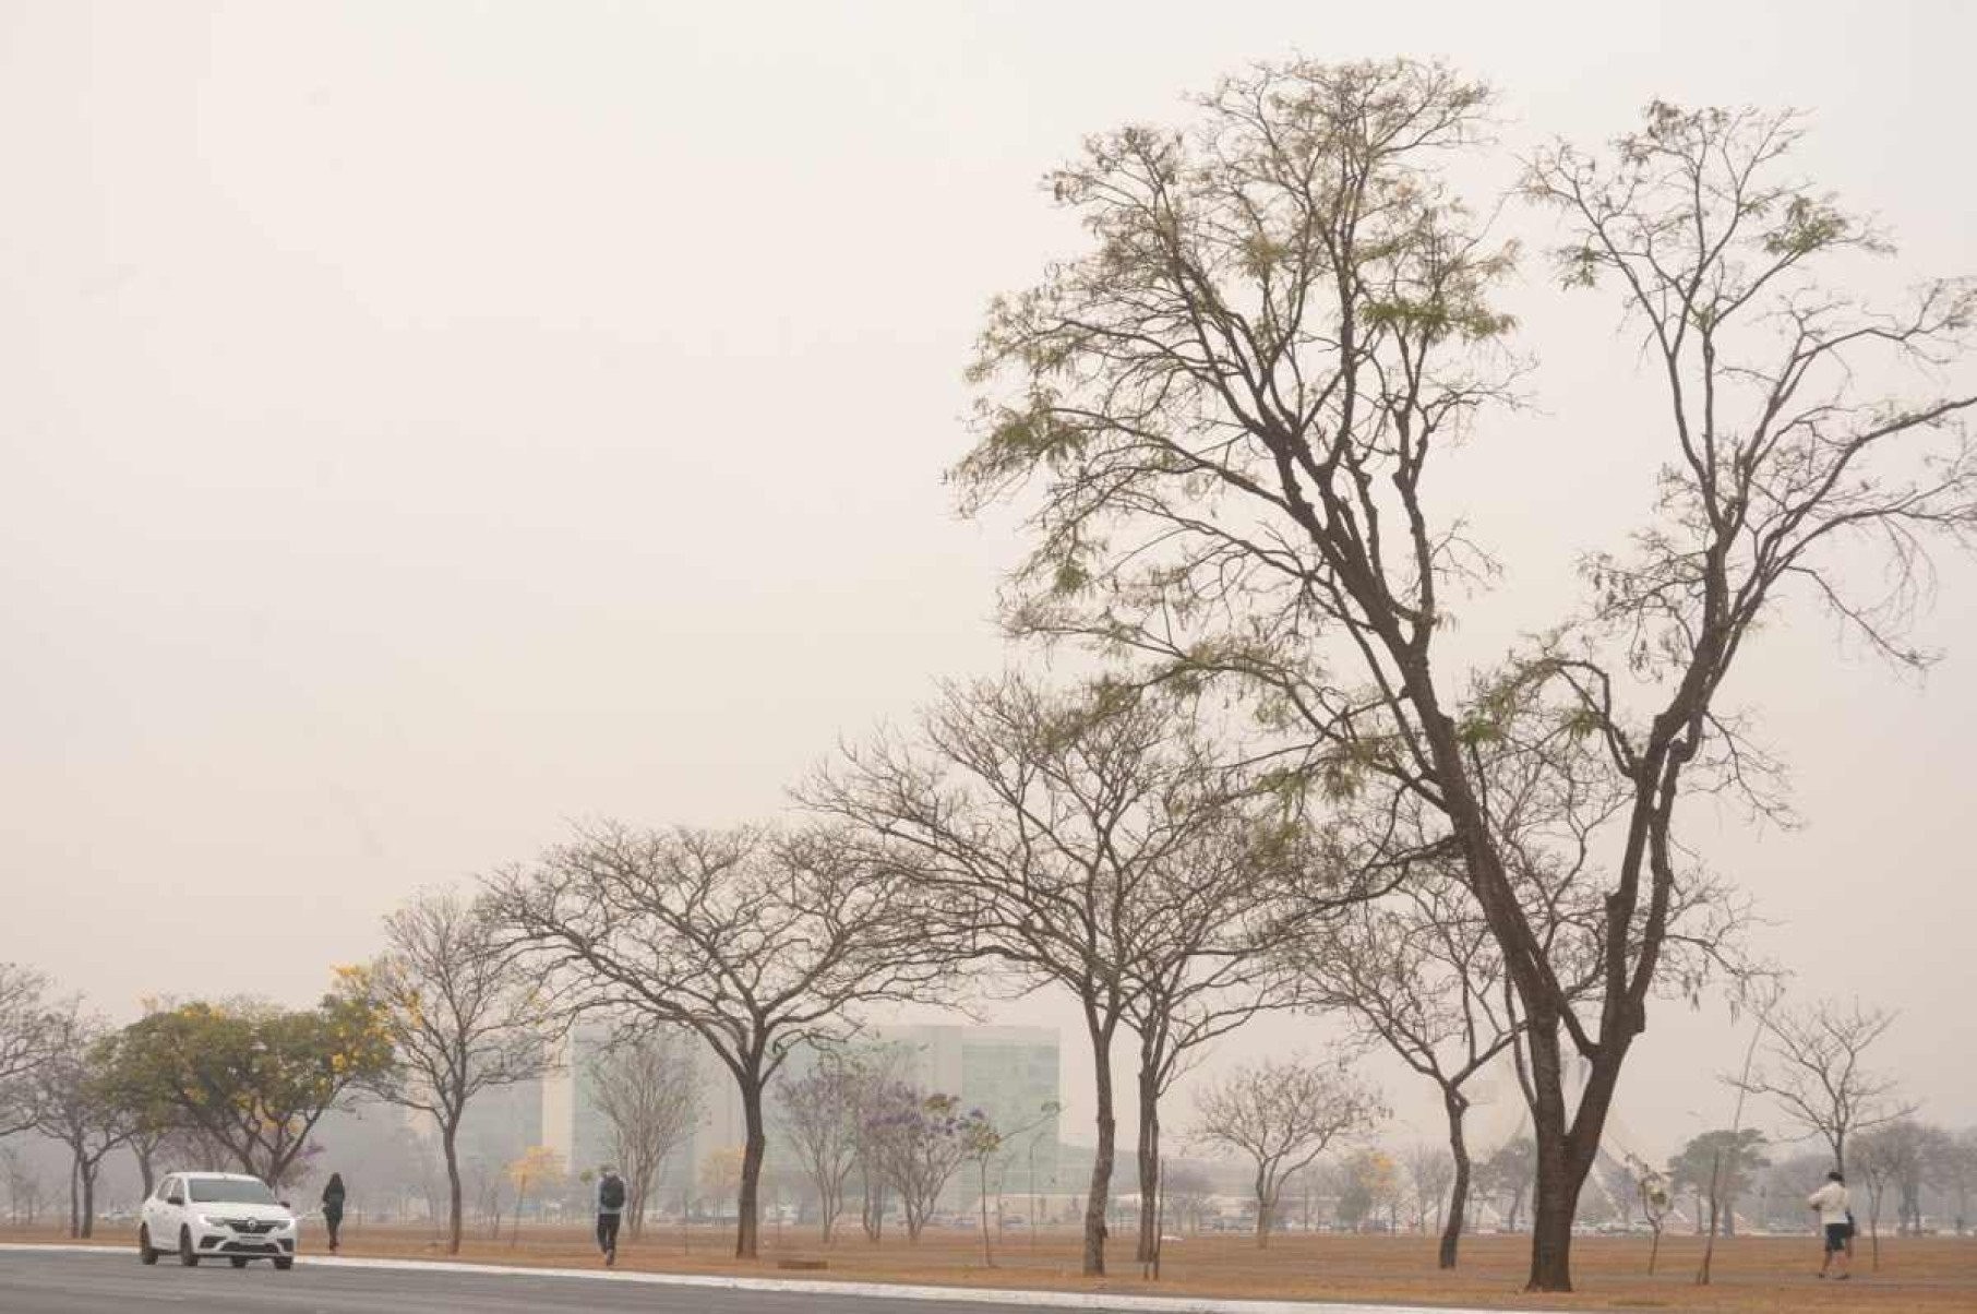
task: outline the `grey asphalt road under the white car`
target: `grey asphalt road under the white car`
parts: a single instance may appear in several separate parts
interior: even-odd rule
[[[872,1300],[817,1292],[747,1292],[571,1276],[514,1276],[352,1268],[302,1259],[289,1272],[265,1263],[233,1268],[206,1263],[154,1268],[134,1253],[4,1253],[0,1310],[6,1314],[111,1314],[178,1308],[249,1314],[1008,1314],[1008,1306],[965,1300]]]

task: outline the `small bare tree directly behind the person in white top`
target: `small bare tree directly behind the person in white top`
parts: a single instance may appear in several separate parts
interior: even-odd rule
[[[1866,1051],[1894,1019],[1894,1011],[1858,999],[1773,1009],[1763,1021],[1762,1063],[1732,1084],[1769,1096],[1801,1136],[1825,1140],[1833,1168],[1847,1172],[1848,1138],[1916,1112],[1900,1098],[1892,1077],[1866,1067]]]

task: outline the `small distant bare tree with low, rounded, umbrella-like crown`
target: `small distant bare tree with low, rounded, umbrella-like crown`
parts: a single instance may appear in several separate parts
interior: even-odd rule
[[[1244,1065],[1194,1100],[1194,1140],[1253,1166],[1255,1243],[1269,1245],[1283,1183],[1332,1144],[1368,1132],[1386,1108],[1336,1065]]]

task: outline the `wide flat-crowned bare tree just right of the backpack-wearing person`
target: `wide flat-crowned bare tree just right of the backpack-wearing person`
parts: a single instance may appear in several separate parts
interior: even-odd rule
[[[935,982],[913,891],[842,835],[599,825],[488,889],[571,1007],[686,1027],[733,1077],[739,1259],[759,1245],[763,1094],[791,1047]]]

